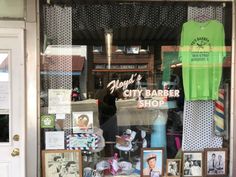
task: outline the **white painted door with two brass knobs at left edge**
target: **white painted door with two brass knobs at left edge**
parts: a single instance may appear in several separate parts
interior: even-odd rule
[[[0,177],[25,177],[24,30],[0,28]]]

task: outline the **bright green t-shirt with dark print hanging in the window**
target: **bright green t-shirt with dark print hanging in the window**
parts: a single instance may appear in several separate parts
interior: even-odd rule
[[[179,58],[186,100],[218,99],[224,40],[224,27],[216,20],[183,24]]]

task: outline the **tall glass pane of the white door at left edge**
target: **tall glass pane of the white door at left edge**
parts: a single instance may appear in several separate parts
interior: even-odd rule
[[[9,141],[8,53],[0,53],[0,142]]]

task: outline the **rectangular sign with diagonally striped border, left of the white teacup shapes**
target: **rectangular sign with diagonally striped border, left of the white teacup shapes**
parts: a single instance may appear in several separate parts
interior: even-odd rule
[[[66,148],[70,150],[94,150],[98,148],[97,134],[78,133],[66,136]]]

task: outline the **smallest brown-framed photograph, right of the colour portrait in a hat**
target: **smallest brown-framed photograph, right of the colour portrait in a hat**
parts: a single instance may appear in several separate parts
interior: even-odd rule
[[[166,176],[180,177],[181,175],[181,159],[166,160]]]

